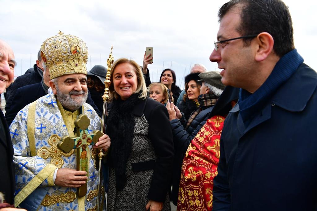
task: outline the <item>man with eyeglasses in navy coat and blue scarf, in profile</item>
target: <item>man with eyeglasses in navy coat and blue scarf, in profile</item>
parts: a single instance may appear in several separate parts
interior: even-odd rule
[[[317,74],[280,0],[232,0],[210,61],[240,88],[220,140],[213,210],[317,210]]]

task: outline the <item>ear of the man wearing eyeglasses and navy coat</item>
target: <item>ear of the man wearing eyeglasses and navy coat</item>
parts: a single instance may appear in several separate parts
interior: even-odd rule
[[[273,51],[274,39],[271,34],[262,32],[256,37],[255,60],[260,62],[265,60]]]

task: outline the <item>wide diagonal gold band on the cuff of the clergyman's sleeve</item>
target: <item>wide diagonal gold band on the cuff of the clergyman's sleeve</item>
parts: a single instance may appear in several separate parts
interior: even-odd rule
[[[48,164],[37,175],[30,180],[28,184],[14,197],[14,206],[17,207],[28,197],[57,167],[53,164]]]

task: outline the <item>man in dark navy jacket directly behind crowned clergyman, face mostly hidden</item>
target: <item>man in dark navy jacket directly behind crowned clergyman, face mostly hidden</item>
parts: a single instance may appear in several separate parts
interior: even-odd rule
[[[31,102],[36,101],[38,98],[47,94],[49,89],[49,81],[51,80],[49,77],[49,70],[43,67],[44,75],[42,78],[41,83],[30,84],[19,88],[16,91],[15,96],[12,99],[12,105],[10,110],[5,114],[5,119],[10,126],[16,115],[23,109],[26,105]],[[32,94],[30,94],[32,93]],[[86,102],[91,105],[96,113],[101,117],[101,113],[98,110],[97,106],[95,105],[94,101],[92,100],[92,96],[88,90],[88,97]]]

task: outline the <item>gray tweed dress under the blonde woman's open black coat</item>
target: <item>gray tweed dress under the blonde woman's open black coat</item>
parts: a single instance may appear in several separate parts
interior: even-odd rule
[[[130,157],[126,164],[126,185],[123,190],[116,190],[116,177],[113,168],[109,169],[108,211],[145,210],[153,170],[132,171],[132,163],[155,160],[151,140],[148,137],[149,124],[144,115],[135,117],[134,134]],[[163,203],[163,211],[170,211],[168,193]]]

